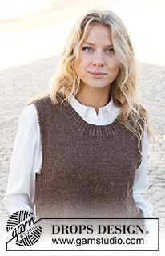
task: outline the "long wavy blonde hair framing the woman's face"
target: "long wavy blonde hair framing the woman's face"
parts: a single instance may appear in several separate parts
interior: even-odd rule
[[[62,50],[58,70],[50,87],[50,99],[53,104],[70,104],[70,95],[76,95],[80,79],[74,69],[79,48],[87,38],[91,25],[101,24],[109,27],[115,55],[119,59],[119,74],[111,83],[110,96],[115,106],[120,107],[118,120],[137,136],[139,152],[142,152],[143,129],[147,129],[154,139],[150,117],[147,110],[139,104],[139,78],[135,52],[122,20],[110,10],[91,10],[79,18]],[[62,101],[59,101],[59,95]]]

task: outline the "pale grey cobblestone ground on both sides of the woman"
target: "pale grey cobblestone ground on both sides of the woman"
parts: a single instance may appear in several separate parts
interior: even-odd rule
[[[26,103],[35,95],[46,91],[50,75],[57,62],[43,59],[35,63],[0,72],[1,144],[0,144],[0,230],[6,229],[8,213],[2,203],[6,193],[10,158],[18,116]],[[141,69],[141,102],[151,113],[155,128],[155,144],[150,144],[148,158],[149,190],[143,198],[154,205],[155,217],[160,218],[160,229],[165,230],[165,67],[143,63]]]

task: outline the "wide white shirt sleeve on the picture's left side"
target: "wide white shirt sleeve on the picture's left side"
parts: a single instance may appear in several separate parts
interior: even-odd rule
[[[34,104],[23,109],[10,161],[10,173],[3,202],[9,214],[20,210],[34,213],[35,174],[41,168],[38,116]]]

